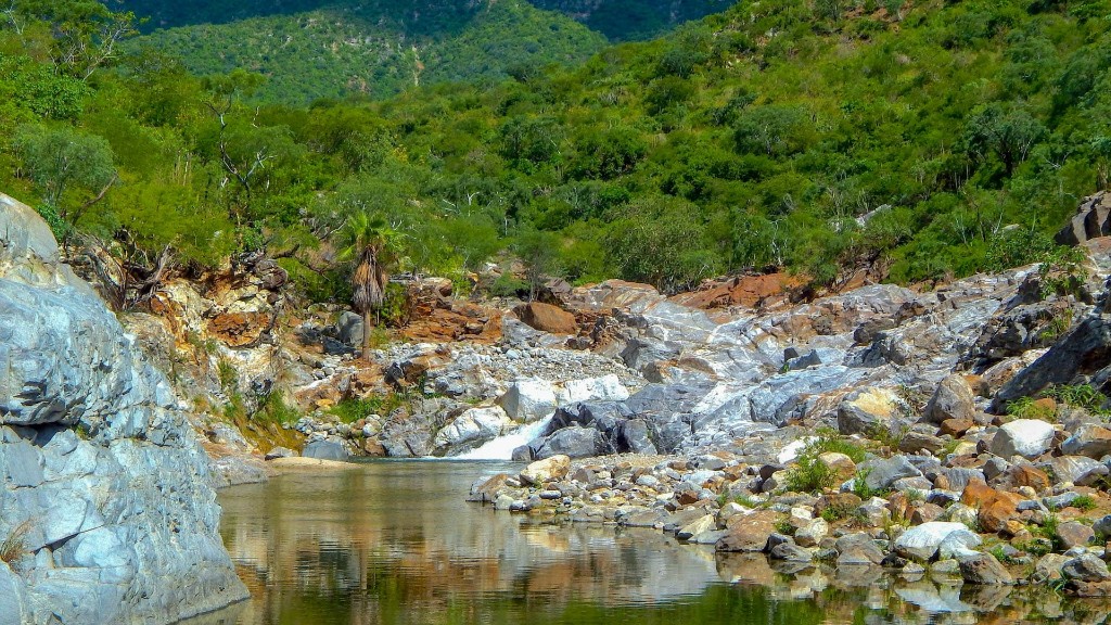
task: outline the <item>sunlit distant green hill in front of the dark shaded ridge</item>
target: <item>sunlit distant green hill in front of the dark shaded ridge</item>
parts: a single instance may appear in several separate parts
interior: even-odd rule
[[[389,96],[419,83],[503,79],[518,67],[577,63],[605,40],[528,2],[468,8],[389,2],[158,30],[131,42],[180,58],[200,76],[267,77],[263,101]]]

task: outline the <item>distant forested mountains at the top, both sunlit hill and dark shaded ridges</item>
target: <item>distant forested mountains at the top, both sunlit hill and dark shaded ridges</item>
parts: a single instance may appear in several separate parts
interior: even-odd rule
[[[199,76],[267,76],[256,101],[396,95],[447,81],[501,80],[524,65],[575,65],[611,40],[643,39],[723,10],[728,0],[126,0],[144,32],[127,43]],[[579,20],[579,21],[575,21]],[[581,23],[579,23],[581,22]]]

